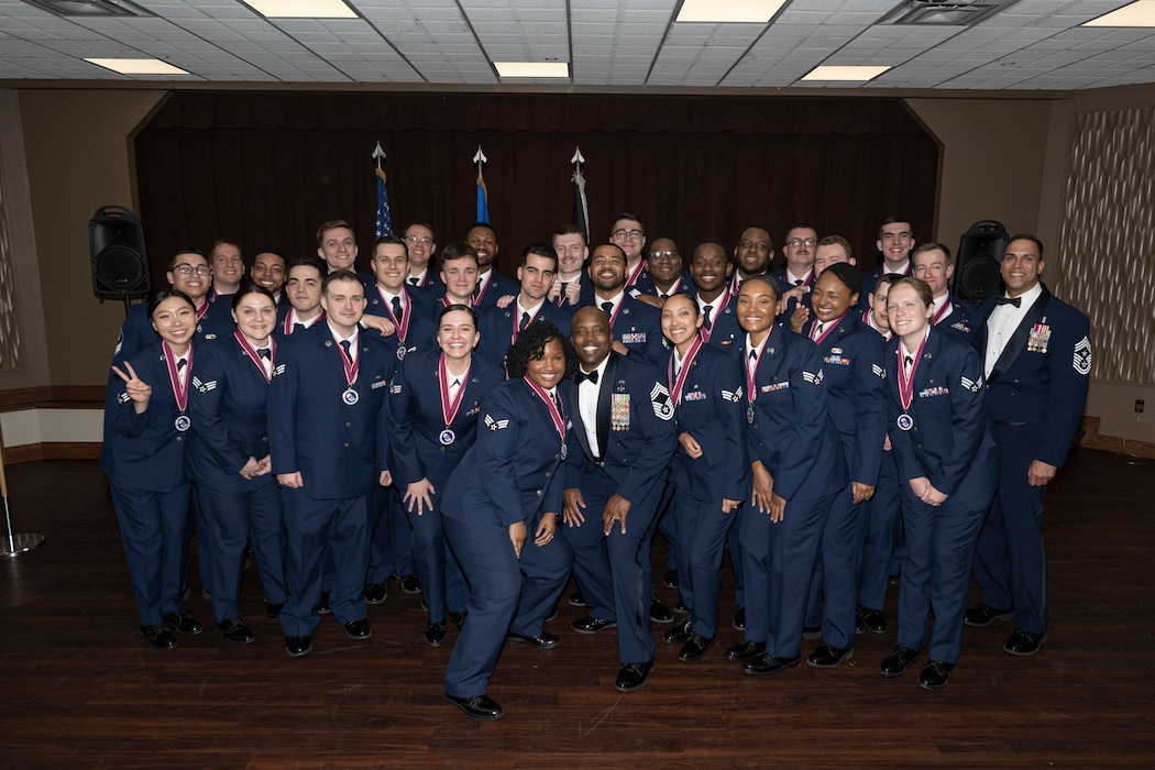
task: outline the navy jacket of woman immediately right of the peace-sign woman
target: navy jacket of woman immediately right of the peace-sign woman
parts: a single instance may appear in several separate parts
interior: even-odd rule
[[[277,356],[273,357],[276,364]],[[193,418],[188,474],[223,492],[247,492],[276,484],[273,473],[245,479],[249,457],[269,454],[269,383],[236,337],[198,349],[188,409]]]

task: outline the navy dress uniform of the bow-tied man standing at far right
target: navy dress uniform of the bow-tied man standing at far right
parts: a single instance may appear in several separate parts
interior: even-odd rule
[[[1045,285],[1008,339],[986,380],[986,405],[1001,450],[998,493],[978,538],[975,580],[979,601],[1014,608],[1015,625],[1046,634],[1046,555],[1043,548],[1045,486],[1030,486],[1035,459],[1061,466],[1087,403],[1090,322]],[[976,345],[985,356],[983,308]]]

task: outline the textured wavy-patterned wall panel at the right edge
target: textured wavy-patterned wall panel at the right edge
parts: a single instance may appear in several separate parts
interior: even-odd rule
[[[1155,110],[1075,114],[1056,252],[1051,291],[1090,317],[1091,375],[1155,384]]]

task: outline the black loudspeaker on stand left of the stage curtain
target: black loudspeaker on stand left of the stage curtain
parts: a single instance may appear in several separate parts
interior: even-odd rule
[[[92,257],[92,290],[97,294],[147,294],[148,274],[144,229],[128,209],[105,205],[88,223],[88,248]]]

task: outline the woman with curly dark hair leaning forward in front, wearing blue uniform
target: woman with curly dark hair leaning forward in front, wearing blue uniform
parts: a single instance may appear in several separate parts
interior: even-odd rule
[[[542,627],[573,566],[554,532],[571,427],[558,384],[576,368],[556,326],[530,324],[506,356],[509,379],[483,398],[477,440],[445,488],[445,534],[470,588],[445,700],[476,719],[504,713],[486,682],[507,638],[542,650],[560,644]]]

